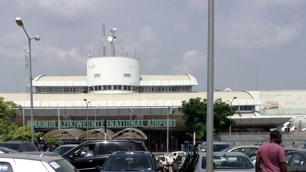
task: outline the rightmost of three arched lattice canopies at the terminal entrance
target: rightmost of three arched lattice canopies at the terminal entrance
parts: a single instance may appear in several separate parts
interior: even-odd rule
[[[132,128],[132,139],[145,139],[146,134],[137,128]],[[131,139],[131,128],[126,128],[124,130],[116,133],[112,139]]]

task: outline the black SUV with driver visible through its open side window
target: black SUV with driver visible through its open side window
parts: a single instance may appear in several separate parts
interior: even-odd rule
[[[92,149],[93,148],[93,149]],[[113,152],[148,151],[143,142],[131,140],[99,140],[80,144],[63,155],[80,172],[95,171]]]

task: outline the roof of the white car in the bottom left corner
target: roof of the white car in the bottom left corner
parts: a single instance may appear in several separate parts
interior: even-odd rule
[[[32,160],[39,160],[39,161],[44,161],[48,163],[63,159],[63,158],[58,158],[54,156],[25,155],[25,154],[18,154],[18,153],[17,154],[3,153],[3,154],[0,154],[0,159],[1,158],[32,159]]]

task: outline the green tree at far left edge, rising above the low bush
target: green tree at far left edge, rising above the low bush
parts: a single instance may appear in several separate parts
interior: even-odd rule
[[[15,109],[23,109],[22,106],[15,104],[13,101],[4,101],[0,97],[0,137],[8,133],[8,127],[15,125],[13,122],[19,113]]]

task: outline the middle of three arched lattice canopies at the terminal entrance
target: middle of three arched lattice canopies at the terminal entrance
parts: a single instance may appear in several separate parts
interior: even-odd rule
[[[104,139],[105,138],[105,129],[104,128],[99,128],[99,129],[93,129],[93,130],[88,130],[88,139]],[[114,136],[114,132],[110,129],[106,129],[106,138],[112,138]],[[87,139],[87,131],[84,131],[80,137],[80,139]]]

